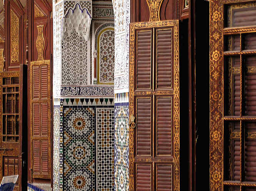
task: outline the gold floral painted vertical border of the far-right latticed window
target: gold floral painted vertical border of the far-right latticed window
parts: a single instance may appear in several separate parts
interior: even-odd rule
[[[223,96],[223,32],[224,30],[224,4],[250,2],[249,0],[210,0],[209,15],[209,72],[210,72],[210,190],[223,190],[223,120],[224,120],[224,96]],[[248,26],[242,29],[250,31]],[[219,137],[219,138],[218,138]],[[225,183],[226,184],[226,183]],[[228,184],[226,184],[228,185]],[[234,184],[232,184],[234,185]],[[238,184],[242,185],[242,184]]]

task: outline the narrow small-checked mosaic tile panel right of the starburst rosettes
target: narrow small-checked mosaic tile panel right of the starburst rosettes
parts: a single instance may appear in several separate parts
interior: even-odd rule
[[[114,108],[96,109],[98,190],[114,189]]]

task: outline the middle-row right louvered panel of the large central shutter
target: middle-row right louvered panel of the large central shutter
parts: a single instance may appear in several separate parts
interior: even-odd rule
[[[171,156],[172,130],[171,130],[171,97],[157,97],[157,155]]]

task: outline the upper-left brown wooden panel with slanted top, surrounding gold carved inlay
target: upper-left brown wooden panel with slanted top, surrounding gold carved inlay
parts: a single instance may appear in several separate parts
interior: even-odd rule
[[[5,71],[18,71],[24,62],[24,11],[20,3],[5,3]]]

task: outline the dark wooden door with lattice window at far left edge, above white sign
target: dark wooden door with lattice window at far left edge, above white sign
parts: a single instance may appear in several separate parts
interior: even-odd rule
[[[0,72],[0,179],[19,173],[20,72]],[[20,179],[20,177],[19,177]],[[14,190],[18,190],[17,181]]]

